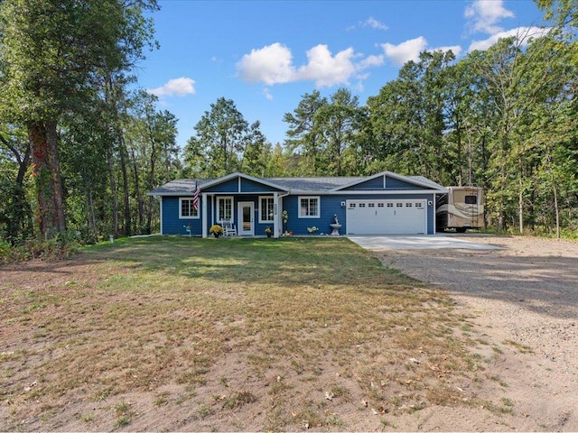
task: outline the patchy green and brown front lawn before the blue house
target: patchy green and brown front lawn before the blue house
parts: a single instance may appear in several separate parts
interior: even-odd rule
[[[457,391],[484,378],[468,318],[345,238],[138,238],[0,272],[2,430],[373,430],[483,404]]]

